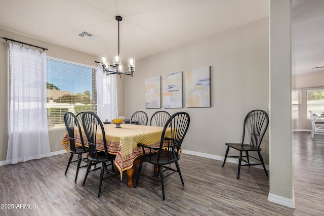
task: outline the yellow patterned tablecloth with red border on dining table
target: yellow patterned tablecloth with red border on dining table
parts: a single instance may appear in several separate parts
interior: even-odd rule
[[[138,143],[150,146],[159,146],[163,127],[144,126],[137,124],[121,124],[121,128],[115,128],[114,124],[104,124],[107,149],[110,154],[115,154],[115,165],[120,171],[120,180],[123,177],[123,171],[133,166],[134,160],[143,154],[142,148],[138,148]],[[81,145],[80,135],[77,129],[75,133],[75,144]],[[171,129],[168,128],[165,137],[170,137]],[[86,146],[87,137],[83,134],[83,140]],[[97,131],[98,150],[104,151],[101,129]],[[69,151],[70,142],[68,134],[63,138],[62,145]]]

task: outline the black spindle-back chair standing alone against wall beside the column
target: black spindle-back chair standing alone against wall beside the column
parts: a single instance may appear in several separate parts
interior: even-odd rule
[[[244,119],[244,125],[243,125],[243,135],[242,135],[242,142],[241,143],[225,143],[227,145],[226,153],[225,153],[225,158],[223,165],[225,165],[225,161],[227,157],[236,157],[238,158],[238,171],[237,171],[237,176],[236,178],[239,179],[239,171],[241,166],[255,166],[255,165],[262,165],[265,171],[265,174],[268,176],[268,172],[265,168],[262,155],[261,155],[261,142],[263,139],[263,136],[268,128],[269,125],[269,116],[268,114],[263,111],[263,110],[252,110],[250,111],[245,119]],[[250,143],[245,144],[245,138],[246,134],[250,134]],[[238,156],[227,156],[229,148],[236,149],[239,151]],[[249,155],[249,152],[258,152],[259,158],[255,158],[251,155]],[[246,153],[246,156],[242,156],[242,152]],[[246,157],[247,160],[243,159],[243,157]],[[250,163],[250,158],[252,157],[258,161],[259,163]],[[241,164],[241,162],[244,161],[246,164]]]

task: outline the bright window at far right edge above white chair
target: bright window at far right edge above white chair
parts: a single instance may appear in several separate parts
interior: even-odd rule
[[[324,89],[307,90],[307,118],[310,118],[311,110],[313,114],[319,115],[324,112]]]

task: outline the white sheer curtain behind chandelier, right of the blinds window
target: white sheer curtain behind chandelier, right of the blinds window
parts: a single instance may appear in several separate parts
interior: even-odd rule
[[[106,75],[98,64],[96,71],[97,114],[101,121],[118,117],[116,76]]]

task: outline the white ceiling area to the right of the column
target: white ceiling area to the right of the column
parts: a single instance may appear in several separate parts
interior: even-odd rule
[[[292,68],[294,75],[324,72],[324,1],[306,0],[292,12]]]

